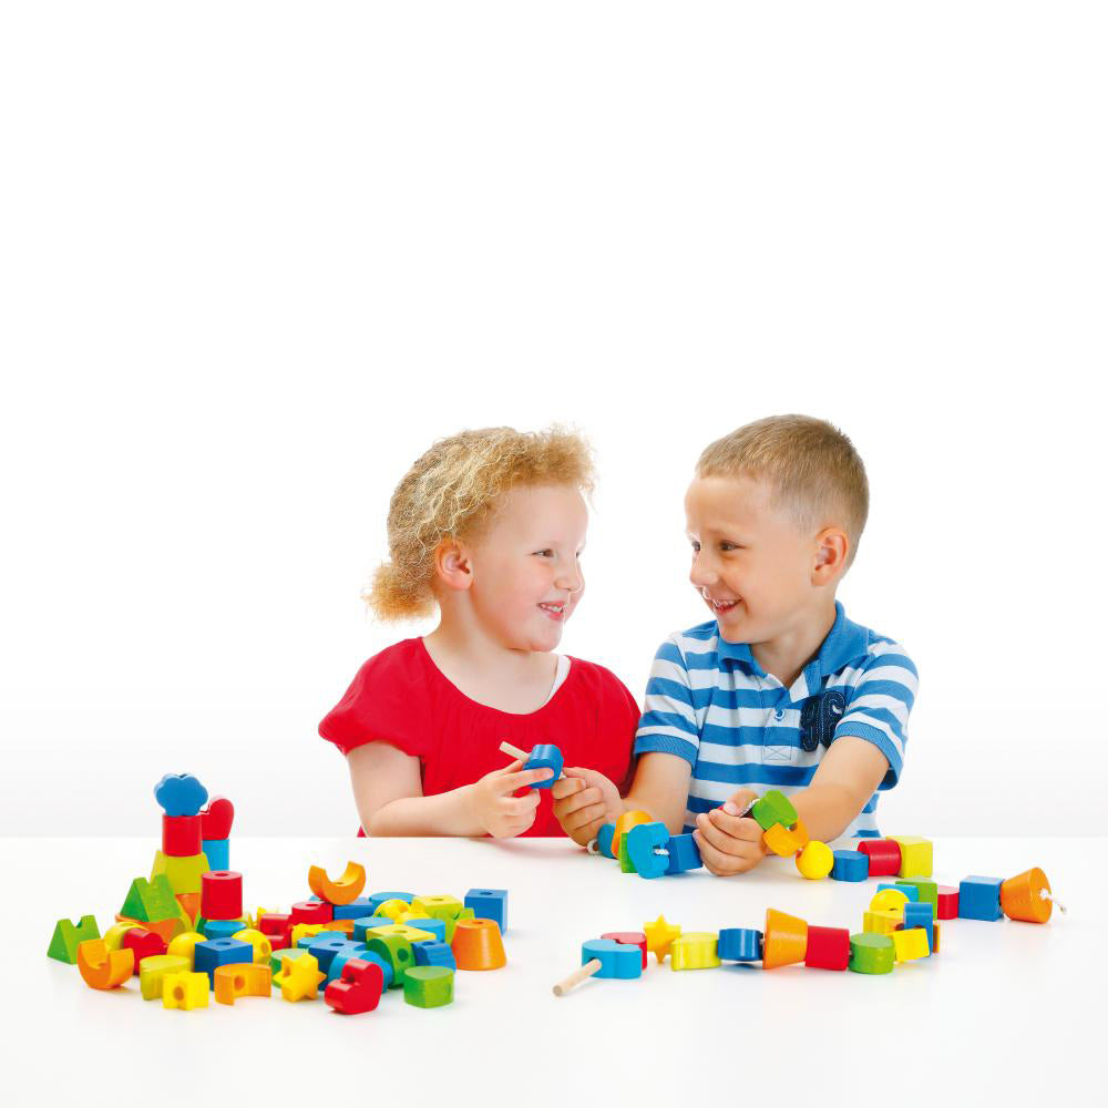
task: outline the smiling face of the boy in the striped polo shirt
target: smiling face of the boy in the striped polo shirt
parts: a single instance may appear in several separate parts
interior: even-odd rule
[[[685,495],[689,581],[728,643],[767,643],[794,627],[815,598],[815,535],[803,535],[755,478],[696,478]]]

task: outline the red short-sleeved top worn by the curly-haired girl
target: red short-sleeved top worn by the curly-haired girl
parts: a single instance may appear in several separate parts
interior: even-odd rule
[[[388,742],[419,758],[423,796],[450,792],[503,769],[505,740],[521,750],[552,742],[566,766],[599,770],[620,789],[630,769],[639,709],[611,670],[571,658],[570,673],[537,711],[519,716],[471,700],[442,675],[421,638],[375,654],[319,733],[343,755],[365,742]],[[524,835],[564,837],[548,789]],[[360,831],[359,831],[360,833]]]

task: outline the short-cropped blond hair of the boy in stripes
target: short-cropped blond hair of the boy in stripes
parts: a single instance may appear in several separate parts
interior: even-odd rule
[[[853,443],[827,420],[770,416],[747,423],[708,447],[696,473],[766,481],[774,506],[806,535],[841,525],[850,540],[845,568],[852,565],[870,512],[870,485]]]

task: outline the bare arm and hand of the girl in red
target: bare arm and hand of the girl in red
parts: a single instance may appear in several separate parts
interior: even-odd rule
[[[472,784],[423,796],[419,759],[388,742],[366,742],[347,755],[358,818],[368,835],[481,835],[507,838],[535,821],[538,793],[513,797],[550,777],[550,770],[520,772],[512,762]]]

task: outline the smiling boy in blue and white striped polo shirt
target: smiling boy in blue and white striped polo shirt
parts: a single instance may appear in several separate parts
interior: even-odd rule
[[[862,460],[823,420],[758,420],[704,451],[685,511],[689,579],[712,618],[655,657],[627,797],[567,769],[555,815],[584,845],[622,811],[649,812],[671,833],[691,830],[720,875],[766,855],[742,813],[770,788],[813,839],[878,835],[876,793],[900,777],[916,670],[835,601],[869,511]]]

